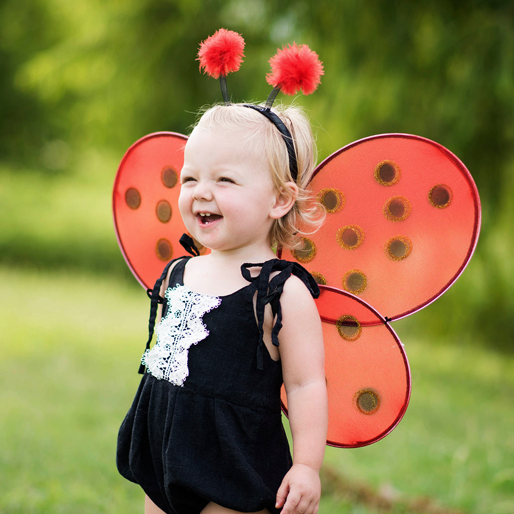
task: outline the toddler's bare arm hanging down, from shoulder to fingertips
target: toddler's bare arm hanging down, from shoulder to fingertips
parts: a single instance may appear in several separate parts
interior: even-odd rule
[[[293,441],[293,466],[277,494],[282,512],[315,514],[327,431],[327,395],[321,321],[310,293],[296,277],[281,296],[280,356]]]

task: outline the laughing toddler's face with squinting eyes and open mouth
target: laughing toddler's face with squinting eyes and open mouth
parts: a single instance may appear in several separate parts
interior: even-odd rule
[[[235,130],[193,130],[178,199],[190,234],[212,250],[266,245],[278,191],[266,159]],[[256,246],[255,246],[256,248]]]

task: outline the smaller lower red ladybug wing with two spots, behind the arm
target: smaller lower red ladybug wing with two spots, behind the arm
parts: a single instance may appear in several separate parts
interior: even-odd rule
[[[369,445],[391,432],[407,409],[407,356],[393,329],[370,305],[340,289],[320,289],[316,304],[325,344],[327,444]],[[282,403],[287,413],[284,389]]]

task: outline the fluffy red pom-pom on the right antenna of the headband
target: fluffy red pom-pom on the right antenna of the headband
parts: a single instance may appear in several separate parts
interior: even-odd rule
[[[279,50],[269,64],[268,84],[280,88],[285,95],[296,95],[300,89],[304,95],[314,93],[323,75],[323,63],[307,45],[288,45]]]

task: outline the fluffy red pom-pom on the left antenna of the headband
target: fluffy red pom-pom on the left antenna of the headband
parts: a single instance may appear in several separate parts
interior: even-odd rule
[[[245,54],[245,40],[232,30],[219,29],[200,44],[197,61],[212,78],[226,77],[237,71]]]

